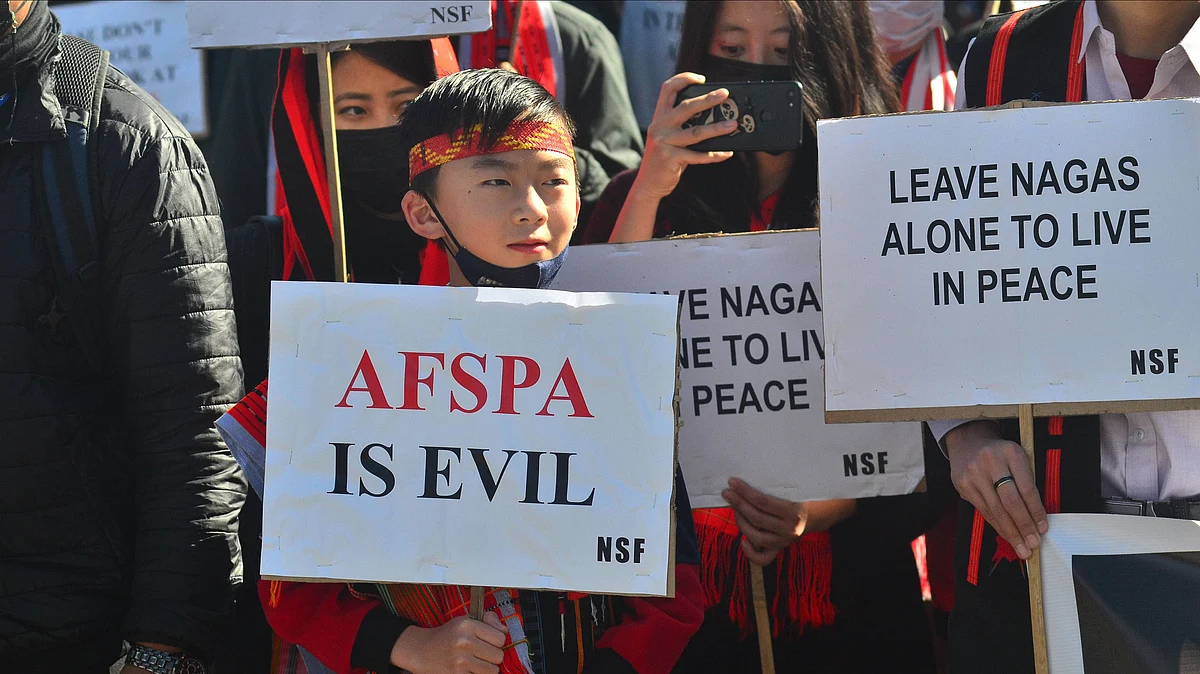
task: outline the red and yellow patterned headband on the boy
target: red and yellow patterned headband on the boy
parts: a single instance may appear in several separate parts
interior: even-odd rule
[[[418,143],[408,151],[408,180],[446,162],[512,150],[548,150],[575,161],[571,134],[557,124],[515,121],[491,148],[482,146],[481,133],[482,127],[475,125],[470,130],[460,128]]]

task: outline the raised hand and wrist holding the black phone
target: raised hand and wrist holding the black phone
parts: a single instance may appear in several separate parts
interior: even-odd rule
[[[654,119],[646,132],[642,166],[637,169],[637,177],[620,209],[610,241],[646,241],[653,237],[659,201],[679,185],[684,169],[692,164],[724,162],[733,156],[733,152],[700,152],[689,149],[695,143],[725,136],[738,127],[737,120],[726,120],[683,128],[692,115],[716,107],[730,97],[728,90],[716,89],[676,106],[679,92],[692,84],[704,84],[704,77],[685,72],[662,83]]]

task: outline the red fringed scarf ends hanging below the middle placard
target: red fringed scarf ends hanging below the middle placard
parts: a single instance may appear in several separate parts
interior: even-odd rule
[[[728,602],[730,620],[743,638],[755,631],[750,596],[750,560],[742,552],[742,534],[733,508],[694,510],[700,540],[700,580],[709,608]],[[775,560],[775,592],[770,600],[772,636],[794,637],[810,627],[833,622],[829,600],[833,549],[826,531],[805,534]]]

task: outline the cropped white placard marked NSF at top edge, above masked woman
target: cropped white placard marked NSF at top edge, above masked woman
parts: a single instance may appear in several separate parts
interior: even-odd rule
[[[197,49],[438,37],[492,28],[485,0],[188,0]]]

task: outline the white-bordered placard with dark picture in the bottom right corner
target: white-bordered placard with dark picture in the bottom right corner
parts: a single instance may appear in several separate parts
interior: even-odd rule
[[[1183,624],[1184,630],[1195,630],[1195,607],[1192,615],[1171,615],[1168,608],[1156,597],[1147,594],[1141,597],[1133,597],[1134,601],[1126,601],[1130,597],[1122,597],[1123,592],[1106,591],[1099,583],[1088,583],[1087,573],[1075,568],[1076,561],[1081,558],[1096,558],[1096,555],[1126,555],[1122,559],[1112,560],[1116,564],[1112,573],[1103,573],[1104,578],[1114,580],[1116,584],[1136,586],[1140,583],[1162,588],[1168,595],[1196,592],[1195,566],[1183,564],[1177,560],[1175,564],[1140,562],[1136,555],[1154,553],[1194,553],[1200,550],[1200,522],[1187,519],[1168,519],[1153,517],[1132,517],[1124,514],[1051,514],[1050,531],[1042,538],[1042,592],[1045,607],[1046,646],[1050,656],[1051,674],[1076,674],[1079,672],[1093,672],[1104,669],[1105,672],[1151,672],[1164,670],[1153,667],[1157,662],[1156,648],[1152,642],[1168,636],[1171,626]],[[1093,560],[1087,560],[1092,561]],[[1145,573],[1150,567],[1151,574]],[[1135,576],[1134,568],[1140,568],[1142,573]],[[1170,573],[1174,571],[1175,573]],[[1092,572],[1098,573],[1097,571]],[[1080,612],[1086,610],[1081,597],[1076,596],[1075,584],[1082,582],[1090,586],[1096,597],[1091,603],[1104,607],[1103,621],[1123,626],[1120,630],[1121,639],[1109,639],[1100,644],[1098,654],[1088,654],[1087,660],[1100,661],[1099,667],[1085,668],[1084,642],[1096,643],[1104,637],[1103,633],[1090,634],[1086,639],[1081,633]],[[1148,583],[1147,583],[1148,582]],[[1140,598],[1140,601],[1139,601]],[[1138,610],[1136,606],[1151,603],[1151,610]],[[1154,610],[1152,607],[1159,607]],[[1153,620],[1138,620],[1139,613],[1154,614]],[[1130,618],[1134,624],[1127,622]],[[1084,624],[1087,624],[1085,616]],[[1154,634],[1153,640],[1139,639],[1139,632]],[[1198,644],[1190,644],[1190,662],[1200,655]],[[1171,655],[1176,658],[1180,650],[1174,654],[1165,654],[1168,660]],[[1123,668],[1122,662],[1139,662],[1142,667]],[[1177,661],[1176,661],[1177,662]],[[1147,667],[1148,666],[1148,667]],[[1189,668],[1172,668],[1171,672],[1186,672]]]

